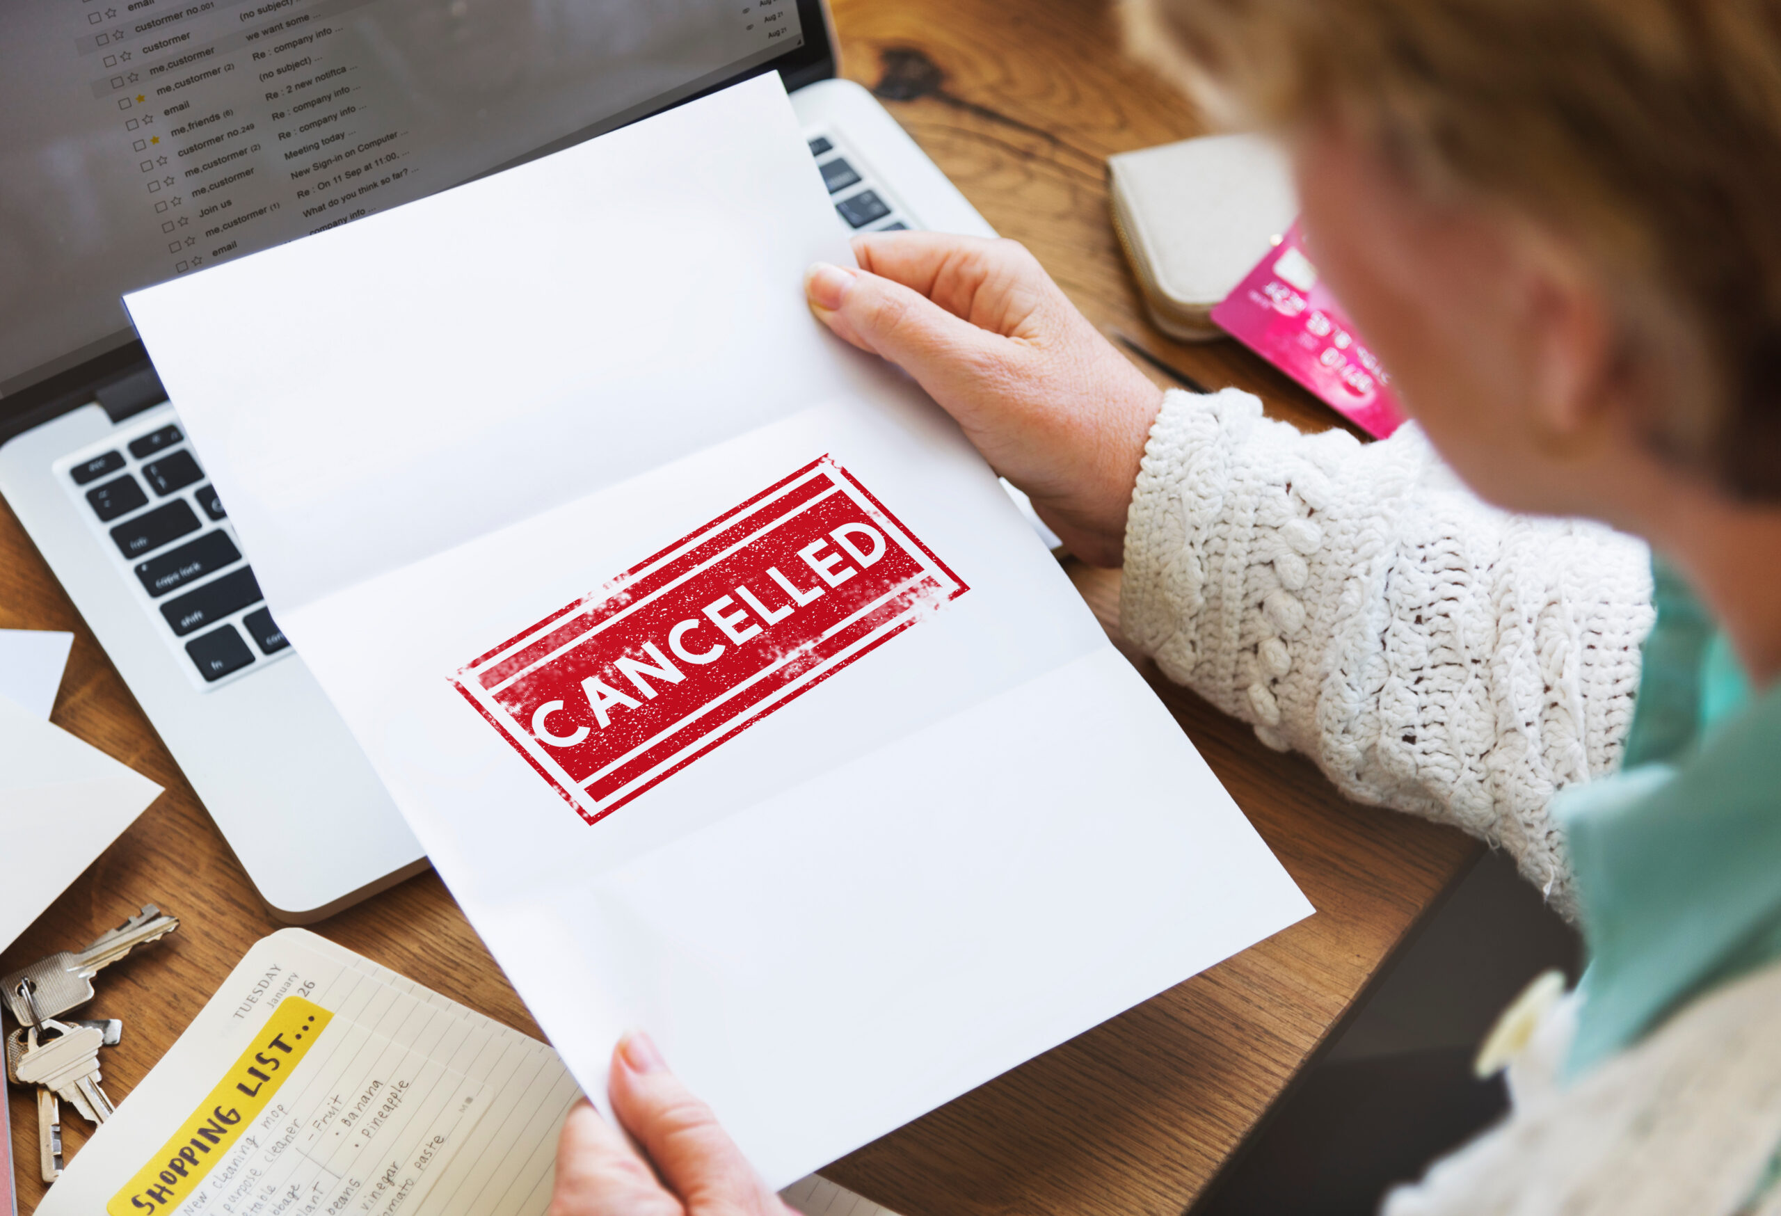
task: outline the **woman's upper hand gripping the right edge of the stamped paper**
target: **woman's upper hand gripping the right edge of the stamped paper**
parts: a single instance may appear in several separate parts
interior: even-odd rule
[[[873,233],[853,253],[860,271],[810,267],[810,310],[914,376],[1072,554],[1120,564],[1163,390],[1012,240]]]

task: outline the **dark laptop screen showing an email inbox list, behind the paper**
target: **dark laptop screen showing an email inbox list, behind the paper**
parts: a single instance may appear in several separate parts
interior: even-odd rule
[[[0,393],[128,344],[125,292],[826,61],[817,0],[0,4]]]

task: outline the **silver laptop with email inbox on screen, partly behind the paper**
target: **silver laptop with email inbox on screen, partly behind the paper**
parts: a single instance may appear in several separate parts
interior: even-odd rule
[[[835,59],[825,0],[0,5],[0,493],[281,920],[426,856],[262,602],[119,296],[764,71],[837,224],[994,235]]]

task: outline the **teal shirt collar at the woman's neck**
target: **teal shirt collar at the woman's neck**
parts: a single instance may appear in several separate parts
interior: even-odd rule
[[[1781,687],[1753,700],[1687,586],[1653,573],[1658,620],[1622,771],[1553,801],[1590,956],[1573,1077],[1781,960]]]

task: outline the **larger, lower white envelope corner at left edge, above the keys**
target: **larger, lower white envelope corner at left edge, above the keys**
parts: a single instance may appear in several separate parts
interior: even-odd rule
[[[0,949],[43,915],[160,787],[0,698]]]

